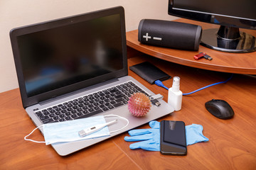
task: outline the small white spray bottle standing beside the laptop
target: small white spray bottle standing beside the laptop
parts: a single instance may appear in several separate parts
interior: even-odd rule
[[[180,78],[174,77],[173,85],[168,91],[168,103],[174,107],[175,111],[181,110],[182,92],[180,91],[179,84]]]

